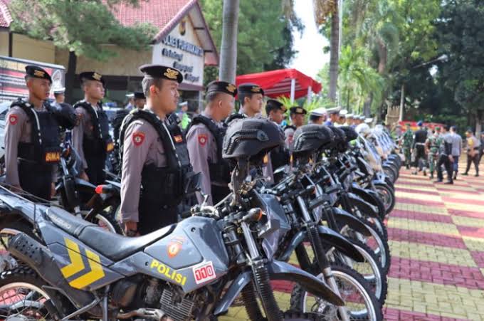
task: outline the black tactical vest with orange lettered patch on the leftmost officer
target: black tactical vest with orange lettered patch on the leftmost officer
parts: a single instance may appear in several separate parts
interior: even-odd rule
[[[46,112],[36,112],[23,100],[17,100],[11,107],[21,107],[31,123],[31,142],[19,142],[18,157],[22,162],[35,164],[56,164],[61,160],[59,124],[50,105],[44,104]],[[35,174],[35,173],[32,173]]]

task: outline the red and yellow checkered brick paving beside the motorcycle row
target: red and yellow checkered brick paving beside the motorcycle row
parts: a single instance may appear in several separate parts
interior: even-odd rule
[[[444,185],[402,169],[386,223],[386,320],[484,320],[484,176]],[[290,289],[275,285],[275,296],[288,308]],[[248,318],[233,307],[220,320]]]

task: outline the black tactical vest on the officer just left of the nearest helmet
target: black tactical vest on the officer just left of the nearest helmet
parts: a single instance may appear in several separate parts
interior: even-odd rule
[[[213,120],[203,115],[194,117],[194,119],[191,120],[189,128],[196,124],[205,125],[205,127],[211,132],[211,135],[214,136],[217,145],[217,161],[209,162],[210,181],[212,183],[216,182],[223,185],[230,183],[231,167],[228,162],[222,158],[223,137],[225,136],[226,127],[218,127]],[[211,161],[214,161],[214,159],[211,159]]]

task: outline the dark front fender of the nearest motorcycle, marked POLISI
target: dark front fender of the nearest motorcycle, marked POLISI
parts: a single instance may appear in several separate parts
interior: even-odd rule
[[[268,264],[268,270],[270,280],[287,280],[299,283],[312,295],[324,298],[334,305],[344,305],[340,295],[333,292],[326,283],[300,268],[296,268],[289,263],[272,261]]]

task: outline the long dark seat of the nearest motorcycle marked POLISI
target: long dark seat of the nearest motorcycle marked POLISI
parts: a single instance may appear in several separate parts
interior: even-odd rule
[[[172,224],[147,235],[134,238],[106,231],[99,226],[88,226],[80,233],[79,239],[106,258],[117,262],[142,251],[143,248],[172,233],[175,226],[177,225]]]

